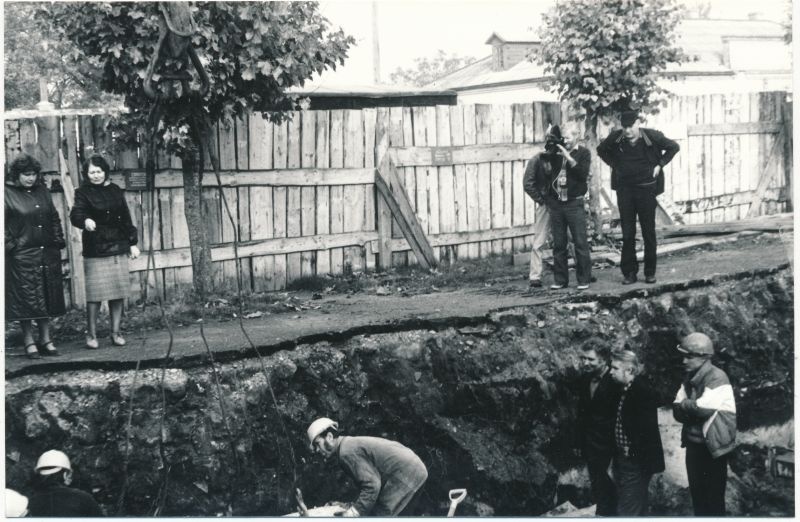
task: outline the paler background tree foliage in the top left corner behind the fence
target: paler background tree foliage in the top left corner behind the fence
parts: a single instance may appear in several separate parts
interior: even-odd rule
[[[35,18],[43,4],[6,2],[4,10],[4,103],[6,110],[30,109],[39,101],[39,79],[47,80],[56,107],[120,104],[99,85],[99,62],[79,59],[75,45]]]

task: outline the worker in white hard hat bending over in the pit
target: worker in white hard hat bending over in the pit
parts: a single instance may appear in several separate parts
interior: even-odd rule
[[[340,436],[339,424],[325,417],[312,422],[306,434],[311,451],[326,460],[336,457],[360,489],[341,516],[396,516],[428,478],[425,464],[399,442]]]

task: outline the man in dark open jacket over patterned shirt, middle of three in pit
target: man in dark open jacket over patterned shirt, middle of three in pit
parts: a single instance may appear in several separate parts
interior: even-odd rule
[[[611,355],[611,377],[622,385],[614,422],[614,482],[617,515],[647,515],[650,478],[664,471],[664,450],[658,430],[658,410],[644,385],[639,358],[623,350]]]

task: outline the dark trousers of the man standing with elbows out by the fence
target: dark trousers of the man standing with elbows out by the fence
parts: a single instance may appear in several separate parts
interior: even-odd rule
[[[644,242],[644,275],[656,275],[656,196],[655,184],[649,187],[620,187],[617,189],[617,207],[622,222],[622,275],[635,276],[639,272],[636,261],[636,218],[642,229]]]

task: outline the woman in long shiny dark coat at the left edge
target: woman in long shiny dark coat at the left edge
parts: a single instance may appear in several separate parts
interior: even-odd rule
[[[25,354],[31,359],[59,355],[50,339],[50,318],[64,315],[61,219],[41,176],[42,166],[22,154],[11,162],[6,180],[6,321],[22,325]],[[33,321],[39,339],[33,340]],[[38,345],[38,348],[37,348]]]

